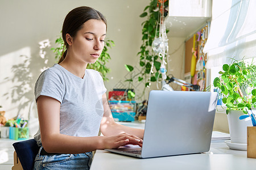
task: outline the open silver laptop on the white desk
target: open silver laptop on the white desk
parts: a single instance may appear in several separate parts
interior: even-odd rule
[[[151,91],[142,148],[107,151],[138,158],[207,152],[216,104],[217,92]]]

